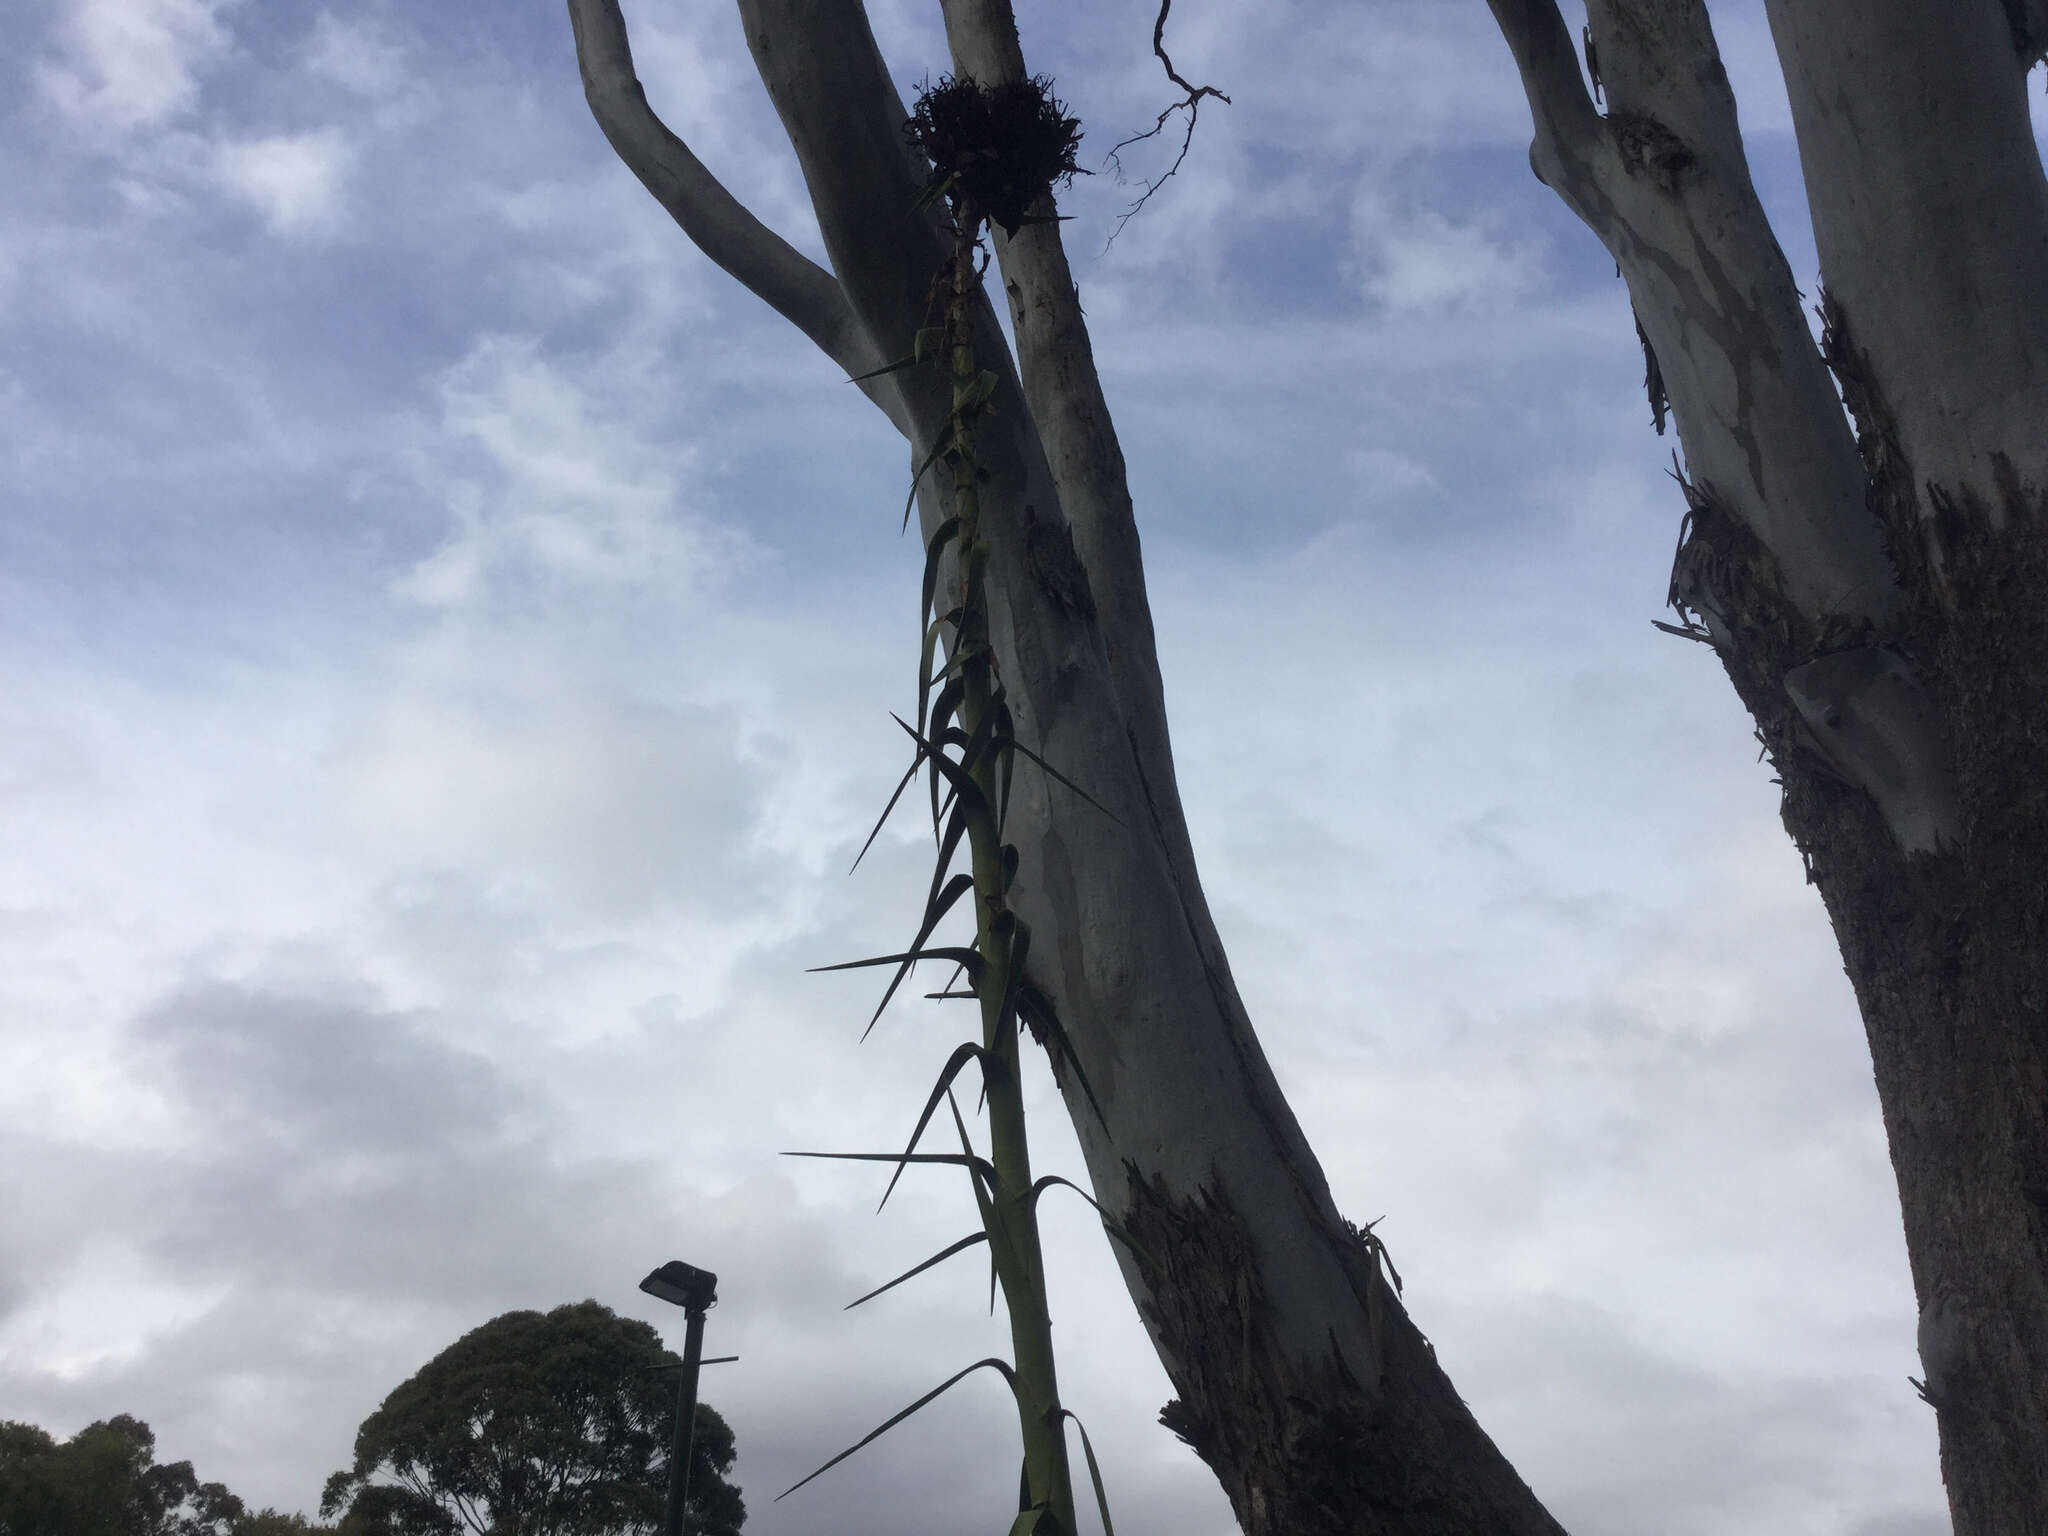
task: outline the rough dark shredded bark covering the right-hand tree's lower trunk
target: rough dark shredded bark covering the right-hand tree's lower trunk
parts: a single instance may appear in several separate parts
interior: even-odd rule
[[[1784,786],[1786,831],[1827,903],[1870,1038],[1915,1292],[1970,1296],[1974,1380],[1939,1409],[1958,1530],[2040,1509],[2048,1434],[2048,494],[1919,483],[1896,418],[1821,299],[1823,350],[1855,420],[1866,498],[1907,604],[1882,635],[1800,618],[1753,539],[1688,487],[1673,598],[1712,604],[1718,647]],[[1784,676],[1878,643],[1942,719],[1960,846],[1905,854],[1870,795],[1802,739]],[[1901,1384],[1901,1391],[1905,1386]]]

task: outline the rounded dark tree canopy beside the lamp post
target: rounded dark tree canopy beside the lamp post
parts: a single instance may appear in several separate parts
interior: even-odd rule
[[[393,1391],[328,1479],[319,1511],[350,1536],[641,1536],[659,1530],[676,1356],[594,1300],[506,1313]],[[698,1403],[690,1530],[745,1520],[733,1432]],[[6,1536],[6,1532],[0,1532]]]

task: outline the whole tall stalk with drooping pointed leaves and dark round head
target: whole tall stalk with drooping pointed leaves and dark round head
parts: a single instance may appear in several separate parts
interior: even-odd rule
[[[989,524],[993,518],[1016,516],[1018,508],[985,506],[983,477],[975,461],[977,424],[993,410],[997,375],[975,356],[975,315],[981,301],[985,266],[983,229],[993,221],[1010,233],[1030,221],[1051,217],[1034,211],[1049,205],[1051,186],[1075,174],[1073,150],[1079,125],[1065,117],[1042,80],[983,88],[975,82],[942,80],[918,98],[918,115],[907,125],[909,137],[932,160],[928,201],[942,203],[950,215],[952,250],[946,268],[936,274],[934,303],[942,311],[936,328],[918,334],[911,354],[891,369],[938,362],[950,381],[950,412],[940,440],[932,446],[918,479],[934,465],[950,471],[948,516],[926,545],[924,571],[924,647],[918,670],[918,723],[903,729],[911,735],[915,756],[889,809],[920,770],[928,774],[932,795],[932,831],[938,860],[926,897],[924,920],[911,946],[901,954],[852,961],[850,967],[889,965],[895,977],[883,993],[877,1018],[897,987],[920,961],[950,961],[965,977],[965,989],[946,989],[940,997],[971,997],[981,1014],[981,1038],[963,1042],[948,1059],[938,1083],[926,1100],[924,1114],[901,1153],[805,1153],[891,1161],[895,1174],[889,1190],[909,1163],[954,1163],[969,1171],[981,1231],[932,1255],[885,1286],[860,1296],[868,1300],[903,1280],[932,1268],[940,1260],[987,1243],[991,1290],[1001,1288],[1010,1313],[1012,1360],[977,1360],[950,1376],[926,1397],[877,1427],[856,1446],[840,1452],[817,1477],[877,1436],[895,1427],[926,1403],[969,1374],[991,1368],[1010,1384],[1018,1409],[1018,1430],[1024,1466],[1018,1489],[1018,1516],[1012,1536],[1067,1536],[1077,1532],[1073,1473],[1067,1458],[1065,1421],[1073,1413],[1059,1399],[1059,1372],[1053,1356],[1053,1321],[1047,1303],[1044,1251],[1038,1241],[1038,1196],[1047,1188],[1067,1184],[1049,1176],[1034,1180],[1030,1169],[1030,1137],[1024,1124],[1024,1081],[1020,1034],[1028,1022],[1049,1049],[1065,1055],[1065,1030],[1049,999],[1030,985],[1026,956],[1030,930],[1010,907],[1010,885],[1016,879],[1018,850],[1004,842],[1004,817],[1010,805],[1016,760],[1024,758],[1040,772],[1067,784],[1083,799],[1071,780],[1059,774],[1036,752],[1016,737],[1016,721],[1006,702],[1001,666],[991,641],[987,565]],[[913,483],[915,496],[915,483]],[[905,510],[907,516],[907,510]],[[948,569],[950,563],[950,569]],[[940,606],[942,578],[956,590],[950,606]],[[950,643],[946,631],[950,631]],[[901,721],[899,721],[901,723]],[[887,819],[889,809],[883,811]],[[877,823],[877,831],[881,823]],[[868,838],[872,844],[872,834]],[[954,872],[961,846],[967,848],[967,870]],[[866,852],[866,850],[862,850]],[[858,860],[856,860],[858,862]],[[975,942],[971,948],[932,944],[932,934],[963,897],[973,897]],[[825,967],[825,969],[850,969]],[[870,1020],[872,1026],[872,1020]],[[973,1063],[981,1071],[987,1106],[987,1157],[981,1157],[967,1133],[967,1120],[952,1098],[954,1079]],[[1085,1085],[1085,1077],[1081,1079]],[[932,1124],[940,1104],[946,1104],[958,1133],[958,1153],[920,1153],[918,1145]],[[1081,1192],[1083,1198],[1085,1192]],[[883,1194],[887,1202],[889,1194]],[[1094,1204],[1094,1200],[1090,1200]],[[1100,1206],[1098,1206],[1100,1214]],[[1124,1233],[1104,1219],[1112,1235]],[[1128,1239],[1124,1239],[1128,1241]],[[854,1305],[860,1305],[858,1300]],[[993,1298],[991,1298],[993,1305]],[[1075,1419],[1075,1423],[1079,1423]],[[1087,1434],[1081,1432],[1090,1481],[1106,1530],[1108,1503]],[[803,1479],[809,1483],[811,1479]],[[799,1483],[797,1487],[803,1487]],[[795,1491],[795,1489],[791,1489]]]

